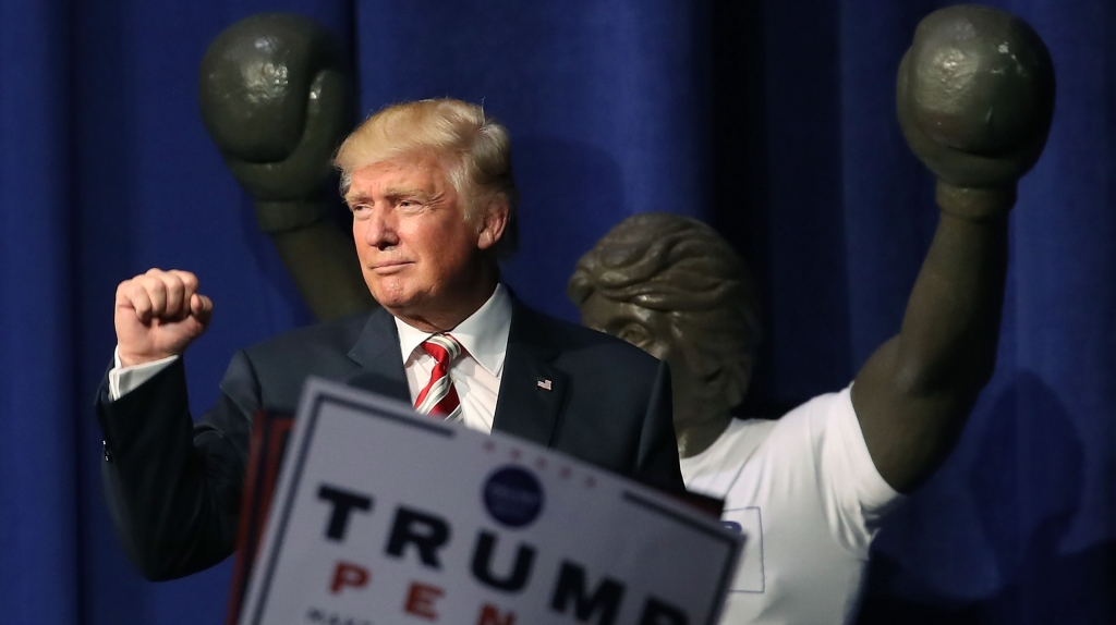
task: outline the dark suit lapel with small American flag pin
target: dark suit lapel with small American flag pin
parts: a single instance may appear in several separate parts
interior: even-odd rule
[[[512,297],[508,353],[492,429],[549,446],[568,380],[551,364],[558,351],[543,332],[546,323]]]

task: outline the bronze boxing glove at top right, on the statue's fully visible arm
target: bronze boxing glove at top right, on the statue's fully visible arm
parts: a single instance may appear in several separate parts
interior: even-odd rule
[[[941,182],[1013,187],[1046,145],[1054,66],[1039,36],[1011,13],[949,7],[918,23],[896,100],[907,143]]]

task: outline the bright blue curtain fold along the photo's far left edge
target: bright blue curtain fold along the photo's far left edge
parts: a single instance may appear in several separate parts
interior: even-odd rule
[[[13,623],[74,623],[81,600],[67,10],[0,6],[0,597]],[[41,388],[55,391],[26,392]]]

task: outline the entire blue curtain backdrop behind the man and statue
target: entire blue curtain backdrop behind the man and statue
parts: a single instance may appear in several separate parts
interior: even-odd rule
[[[862,623],[1116,618],[1116,4],[994,3],[1058,71],[1012,217],[1000,360],[956,451],[874,550]],[[451,95],[513,134],[522,252],[507,279],[576,319],[565,282],[624,217],[700,216],[752,264],[766,342],[745,413],[848,382],[898,328],[933,232],[894,75],[927,0],[0,2],[0,622],[223,617],[228,564],[127,565],[90,408],[115,285],[195,271],[217,310],[195,412],[234,349],[310,315],[202,127],[198,65],[250,13],[331,29],[367,113]]]

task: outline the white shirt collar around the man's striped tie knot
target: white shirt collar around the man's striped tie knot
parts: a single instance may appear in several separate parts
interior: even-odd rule
[[[395,319],[395,328],[400,332],[400,352],[403,363],[411,360],[412,354],[433,332],[424,332]],[[503,284],[497,284],[496,291],[484,305],[465,318],[456,328],[446,332],[461,343],[469,355],[473,357],[485,371],[500,375],[503,360],[508,355],[508,334],[511,332],[511,297]]]

